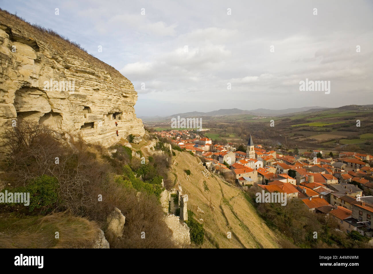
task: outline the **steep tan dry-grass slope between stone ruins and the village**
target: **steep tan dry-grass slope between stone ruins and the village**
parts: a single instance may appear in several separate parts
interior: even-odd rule
[[[195,213],[197,220],[203,219],[203,222],[199,221],[207,232],[203,248],[280,247],[279,236],[257,215],[244,192],[216,175],[207,179],[201,173],[205,167],[198,158],[187,152],[175,152],[171,173],[177,175],[177,183],[189,196],[188,209]],[[186,169],[191,171],[188,180],[184,172]],[[205,190],[203,181],[206,181],[209,190]],[[197,207],[205,213],[197,212]],[[231,239],[227,238],[228,232],[232,234]]]

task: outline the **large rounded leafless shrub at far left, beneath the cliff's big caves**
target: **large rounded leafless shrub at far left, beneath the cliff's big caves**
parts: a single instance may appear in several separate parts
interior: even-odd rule
[[[50,127],[31,120],[20,120],[15,127],[6,124],[2,131],[6,179],[14,186],[24,186],[29,179],[43,174],[53,176],[59,168],[56,157],[63,161],[69,151]]]

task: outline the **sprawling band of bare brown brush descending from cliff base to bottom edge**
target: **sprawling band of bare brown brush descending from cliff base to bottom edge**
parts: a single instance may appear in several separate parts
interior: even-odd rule
[[[59,205],[54,212],[88,218],[103,230],[109,213],[119,208],[126,216],[125,232],[121,239],[107,235],[111,247],[175,247],[156,196],[142,193],[137,198],[135,189],[114,182],[115,169],[81,136],[72,136],[68,143],[47,126],[20,121],[16,129],[4,129],[1,137],[8,147],[6,182],[19,180],[25,185],[36,176],[54,176],[59,181]],[[55,155],[59,155],[59,164],[54,162]],[[159,157],[156,163],[163,161],[167,160]]]

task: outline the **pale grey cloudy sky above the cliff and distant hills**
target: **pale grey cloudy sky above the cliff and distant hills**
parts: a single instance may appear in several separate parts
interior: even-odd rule
[[[137,116],[373,104],[372,1],[0,0],[0,7],[119,70],[138,92]],[[330,81],[330,94],[300,91],[306,78]]]

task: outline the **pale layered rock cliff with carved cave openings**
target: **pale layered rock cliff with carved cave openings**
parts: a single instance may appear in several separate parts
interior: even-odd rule
[[[0,127],[20,118],[110,146],[144,135],[137,92],[113,67],[0,10]],[[117,122],[117,126],[115,125]],[[118,130],[118,135],[116,135]]]

